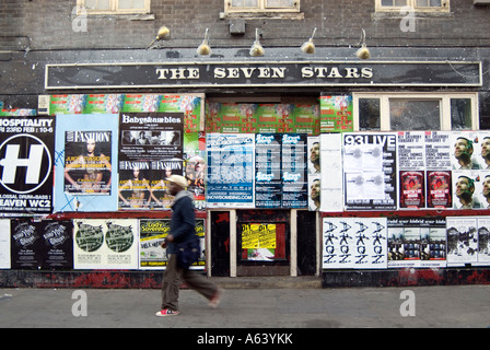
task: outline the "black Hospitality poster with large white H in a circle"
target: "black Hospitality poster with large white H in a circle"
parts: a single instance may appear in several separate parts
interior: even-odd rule
[[[0,212],[49,214],[54,117],[0,118]]]

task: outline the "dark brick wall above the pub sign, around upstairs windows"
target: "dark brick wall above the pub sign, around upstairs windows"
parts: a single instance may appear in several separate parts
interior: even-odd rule
[[[452,13],[418,18],[416,32],[400,31],[400,16],[374,13],[374,0],[302,0],[304,20],[247,20],[244,36],[232,36],[221,20],[223,0],[152,0],[152,16],[90,16],[86,32],[72,30],[75,0],[2,0],[0,49],[145,48],[161,25],[173,32],[173,47],[194,47],[210,28],[213,46],[249,46],[255,27],[264,45],[298,46],[318,27],[317,45],[359,43],[365,28],[371,45],[490,46],[490,8],[452,0]]]

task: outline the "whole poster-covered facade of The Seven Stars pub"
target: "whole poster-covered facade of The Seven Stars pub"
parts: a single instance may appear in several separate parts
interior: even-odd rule
[[[170,174],[207,276],[488,281],[487,5],[171,2],[2,10],[2,285],[156,285]]]

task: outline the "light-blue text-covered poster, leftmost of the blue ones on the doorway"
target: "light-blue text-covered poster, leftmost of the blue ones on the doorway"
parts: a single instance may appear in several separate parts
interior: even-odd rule
[[[207,135],[208,208],[254,208],[255,135]]]

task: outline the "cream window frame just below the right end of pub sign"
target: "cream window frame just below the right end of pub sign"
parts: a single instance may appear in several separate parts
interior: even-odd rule
[[[389,100],[413,100],[413,101],[440,101],[441,106],[441,130],[434,131],[457,131],[452,126],[451,101],[467,98],[471,101],[471,130],[479,130],[479,109],[478,92],[444,92],[444,93],[407,93],[407,92],[354,92],[352,93],[353,103],[353,128],[354,131],[361,131],[359,119],[359,100],[378,98],[380,100],[380,130],[378,131],[398,131],[390,128],[390,108]],[[368,131],[368,130],[364,130]],[[372,130],[376,131],[376,130]],[[412,130],[404,130],[412,131]],[[428,130],[430,131],[430,130]]]

